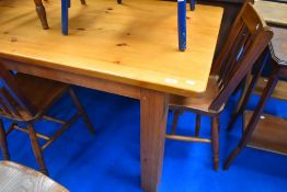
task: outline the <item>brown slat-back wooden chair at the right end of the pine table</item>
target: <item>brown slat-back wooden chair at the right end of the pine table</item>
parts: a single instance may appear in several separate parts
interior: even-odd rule
[[[172,95],[170,108],[174,110],[172,133],[167,138],[211,143],[214,168],[219,168],[219,115],[229,97],[252,69],[253,64],[267,46],[273,32],[261,20],[251,3],[244,3],[236,19],[228,41],[215,65],[218,76],[209,77],[209,82],[203,98],[183,98]],[[218,66],[221,66],[220,68]],[[196,113],[195,136],[175,135],[176,123],[181,111]],[[199,137],[200,115],[211,117],[211,138]]]

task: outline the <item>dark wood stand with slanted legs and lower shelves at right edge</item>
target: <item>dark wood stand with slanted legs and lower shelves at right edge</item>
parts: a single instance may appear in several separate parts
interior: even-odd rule
[[[253,113],[248,111],[244,112],[244,116],[242,118],[244,123],[243,134],[237,147],[231,151],[225,162],[223,169],[226,170],[229,169],[236,157],[244,149],[248,144],[250,144],[250,142],[251,146],[267,151],[279,154],[286,154],[287,151],[286,137],[284,137],[287,133],[287,121],[279,120],[279,117],[272,115],[263,115],[266,102],[271,97],[285,101],[287,100],[286,81],[279,80],[280,78],[283,80],[287,79],[287,29],[273,26],[272,30],[274,32],[274,37],[272,38],[272,42],[268,46],[271,52],[271,76],[267,80],[267,83],[262,81],[260,77],[264,66],[264,61],[262,61],[259,65],[260,70],[254,72],[253,77],[251,77],[251,82],[246,83],[244,87],[245,91],[243,91],[243,94],[241,95],[241,102],[239,102],[237,110],[232,115],[228,131],[232,129],[237,118],[246,109],[246,104],[252,93],[257,92],[261,94],[261,98]],[[268,58],[268,54],[264,54],[262,57]],[[259,87],[256,88],[256,86]],[[261,120],[263,117],[262,115],[265,116],[266,120]]]

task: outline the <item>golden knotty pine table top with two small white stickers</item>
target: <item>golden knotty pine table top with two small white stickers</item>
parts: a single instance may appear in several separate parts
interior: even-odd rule
[[[158,91],[194,95],[206,90],[222,8],[187,11],[187,49],[177,50],[176,2],[92,0],[69,9],[60,32],[60,2],[44,3],[44,31],[31,0],[0,1],[0,57]]]

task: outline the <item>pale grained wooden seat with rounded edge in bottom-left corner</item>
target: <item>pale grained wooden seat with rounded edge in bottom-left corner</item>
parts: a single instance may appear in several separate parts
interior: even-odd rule
[[[0,161],[0,191],[69,192],[45,174],[11,161]]]

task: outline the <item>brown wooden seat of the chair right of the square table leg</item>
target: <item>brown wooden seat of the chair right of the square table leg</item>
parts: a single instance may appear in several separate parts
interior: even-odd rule
[[[209,110],[210,104],[216,99],[216,97],[219,93],[219,88],[217,84],[217,78],[214,76],[209,77],[208,84],[206,88],[206,91],[203,93],[203,97],[200,98],[193,98],[193,97],[180,97],[180,95],[171,95],[170,97],[170,108],[171,109],[185,109],[187,111],[196,112],[196,113],[203,113],[203,114],[217,114],[222,109],[223,105],[220,108],[219,111],[213,112]]]

